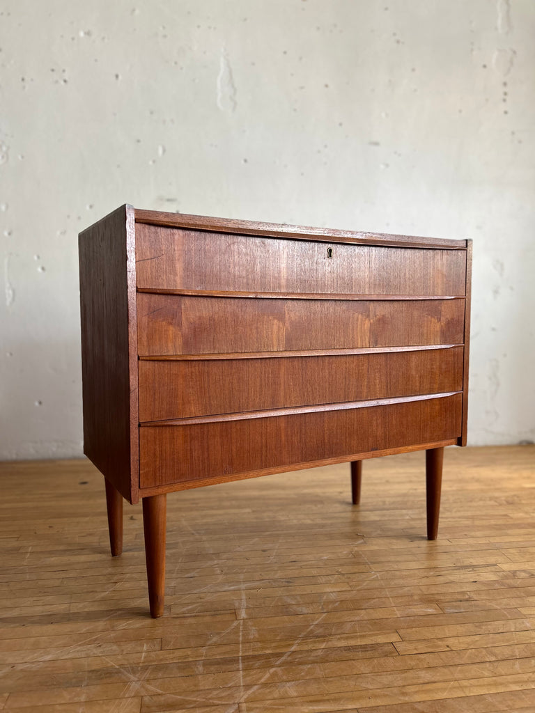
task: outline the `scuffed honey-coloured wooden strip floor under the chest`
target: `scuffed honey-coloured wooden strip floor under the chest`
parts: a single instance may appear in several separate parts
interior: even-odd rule
[[[1,463],[2,713],[535,712],[535,446],[168,496],[166,613],[141,506],[111,558],[88,461]]]

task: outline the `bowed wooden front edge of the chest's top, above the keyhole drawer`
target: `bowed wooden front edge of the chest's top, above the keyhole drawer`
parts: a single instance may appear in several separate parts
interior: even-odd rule
[[[234,220],[233,218],[187,215],[158,210],[136,208],[136,222],[151,226],[192,227],[210,232],[238,232],[245,235],[279,237],[281,234],[293,240],[335,240],[365,245],[407,245],[409,247],[449,247],[453,250],[466,248],[466,240],[445,240],[437,237],[414,237],[413,235],[391,235],[378,232],[358,232],[355,230],[332,230],[332,228],[303,227],[302,225],[281,225],[279,223],[255,220]]]

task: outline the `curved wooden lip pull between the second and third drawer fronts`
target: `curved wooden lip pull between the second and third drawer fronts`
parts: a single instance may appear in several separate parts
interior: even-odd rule
[[[292,356],[345,356],[351,354],[392,354],[455,349],[464,344],[407,344],[403,347],[355,347],[355,349],[295,349],[287,352],[228,352],[215,354],[140,354],[139,361],[210,361],[210,359],[277,359]]]

